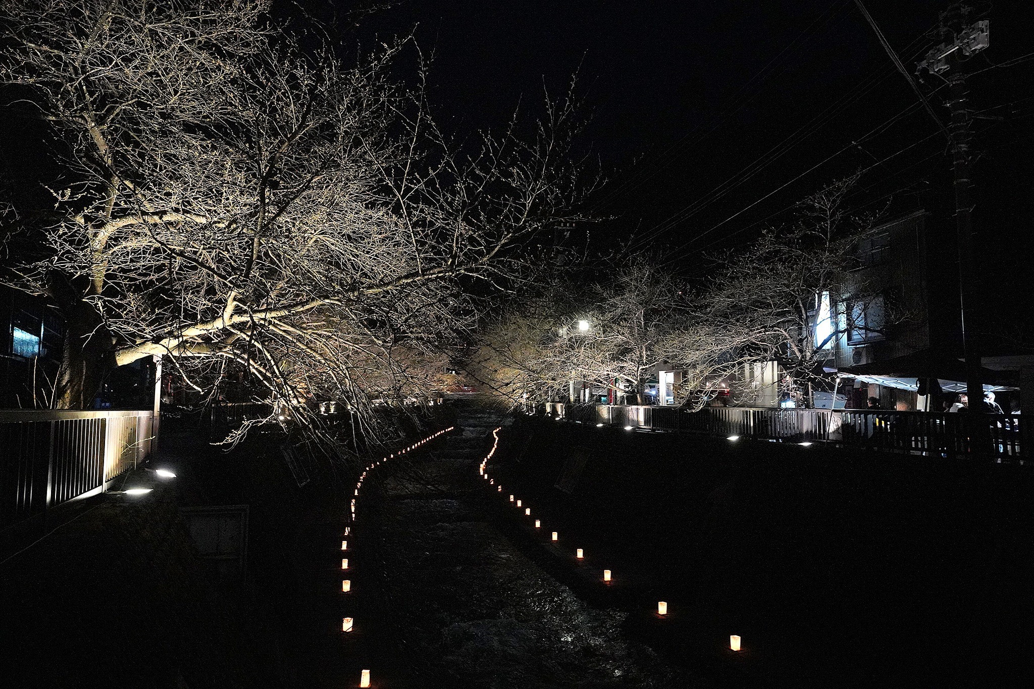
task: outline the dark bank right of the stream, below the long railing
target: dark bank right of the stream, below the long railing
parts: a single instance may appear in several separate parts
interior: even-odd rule
[[[489,470],[558,575],[719,684],[1030,686],[1026,467],[523,419]]]

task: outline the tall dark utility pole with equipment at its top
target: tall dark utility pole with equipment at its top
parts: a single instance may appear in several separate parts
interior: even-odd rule
[[[983,411],[983,384],[976,319],[976,286],[979,261],[973,245],[973,200],[970,174],[973,152],[970,143],[969,89],[966,86],[967,59],[989,45],[987,20],[970,22],[973,9],[955,4],[941,13],[941,42],[926,53],[916,71],[933,74],[947,72],[948,101],[951,123],[952,169],[955,191],[955,231],[959,245],[959,306],[962,324],[963,352],[966,357],[966,394],[971,411]],[[977,443],[978,445],[982,443]]]

